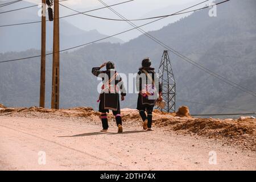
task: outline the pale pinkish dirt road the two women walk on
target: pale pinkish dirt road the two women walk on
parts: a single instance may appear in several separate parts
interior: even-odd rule
[[[100,129],[94,123],[69,119],[0,116],[0,169],[256,169],[255,151],[223,146],[213,139],[176,135],[158,128],[142,131],[125,126],[122,134],[116,133],[116,126],[109,133],[98,133]],[[216,159],[217,164],[209,164],[209,158]]]

